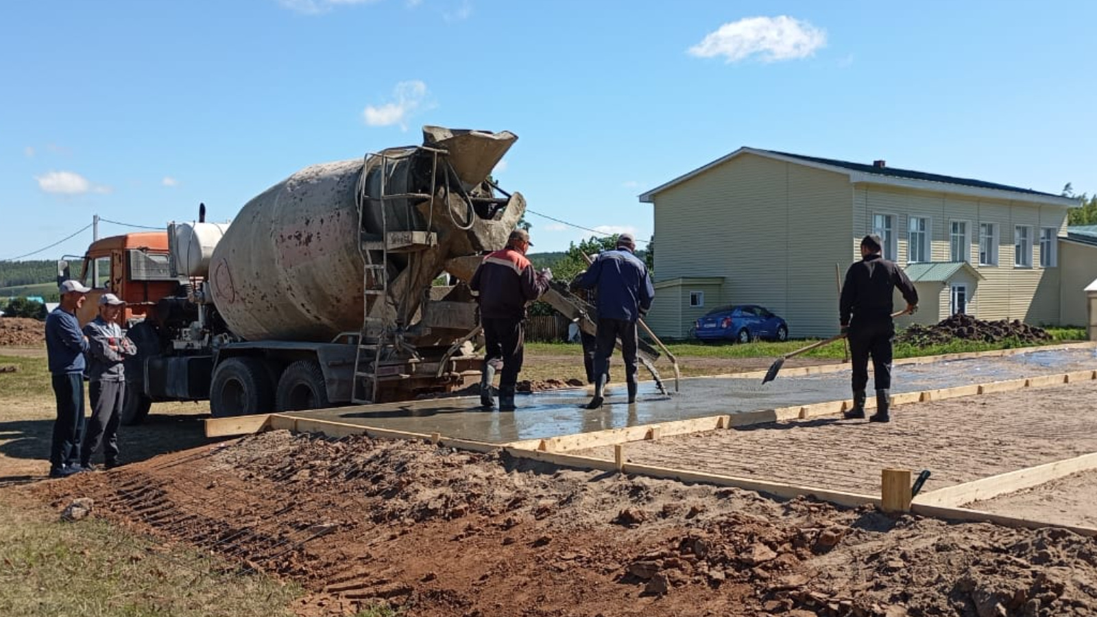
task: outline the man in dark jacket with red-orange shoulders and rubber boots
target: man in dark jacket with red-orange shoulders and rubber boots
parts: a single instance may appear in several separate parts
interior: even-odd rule
[[[480,380],[480,404],[490,408],[491,380],[499,375],[499,411],[514,411],[514,386],[522,370],[525,304],[541,296],[548,289],[552,271],[541,272],[525,258],[533,246],[530,234],[514,229],[507,246],[484,258],[470,287],[479,292],[480,324],[486,340],[484,375]]]

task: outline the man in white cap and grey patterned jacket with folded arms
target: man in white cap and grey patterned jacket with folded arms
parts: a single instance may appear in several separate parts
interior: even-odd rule
[[[91,418],[80,449],[80,468],[93,469],[91,457],[103,446],[103,462],[114,469],[118,461],[118,422],[125,402],[126,377],[123,361],[137,352],[137,347],[126,338],[120,325],[125,302],[113,293],[99,299],[99,316],[83,326],[88,337],[88,393],[91,395]]]

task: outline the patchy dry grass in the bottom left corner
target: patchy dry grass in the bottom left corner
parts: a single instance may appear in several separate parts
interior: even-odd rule
[[[63,523],[47,508],[21,505],[0,500],[0,615],[290,616],[302,593],[102,520]]]

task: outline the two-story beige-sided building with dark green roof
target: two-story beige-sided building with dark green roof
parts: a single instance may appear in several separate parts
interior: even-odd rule
[[[743,147],[640,200],[654,204],[647,321],[659,336],[688,337],[704,313],[740,303],[781,315],[790,336],[833,335],[838,272],[869,233],[917,285],[920,311],[901,325],[953,313],[1061,323],[1059,238],[1073,199]]]

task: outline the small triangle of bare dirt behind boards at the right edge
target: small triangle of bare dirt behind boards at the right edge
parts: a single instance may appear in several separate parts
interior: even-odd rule
[[[1074,473],[964,507],[1030,520],[1097,527],[1097,470]]]

